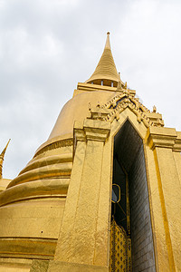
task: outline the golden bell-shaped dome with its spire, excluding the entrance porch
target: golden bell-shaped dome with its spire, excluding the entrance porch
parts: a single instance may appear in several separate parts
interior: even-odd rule
[[[48,141],[0,194],[3,222],[0,237],[4,238],[3,247],[0,240],[0,247],[6,257],[54,256],[71,179],[74,123],[89,117],[89,103],[91,107],[98,103],[103,105],[120,92],[116,88],[118,82],[108,34],[104,53],[90,81],[78,83]],[[114,88],[111,83],[115,84]],[[3,162],[3,154],[0,159]]]

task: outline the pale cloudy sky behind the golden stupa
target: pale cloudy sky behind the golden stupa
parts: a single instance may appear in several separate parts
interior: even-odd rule
[[[13,179],[93,73],[110,31],[118,71],[181,131],[180,0],[0,0],[0,149]]]

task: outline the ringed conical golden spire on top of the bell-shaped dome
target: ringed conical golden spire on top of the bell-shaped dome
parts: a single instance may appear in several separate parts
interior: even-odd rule
[[[106,86],[112,86],[113,84],[113,86],[116,87],[119,82],[118,79],[119,74],[110,50],[110,32],[108,32],[105,48],[100,57],[100,62],[86,83],[103,84]]]

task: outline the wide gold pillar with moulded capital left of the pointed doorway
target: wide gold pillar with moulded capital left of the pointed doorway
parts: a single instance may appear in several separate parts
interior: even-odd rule
[[[111,156],[109,133],[106,121],[75,122],[71,181],[49,271],[109,271],[110,182],[102,177],[110,170],[105,156],[107,149]]]

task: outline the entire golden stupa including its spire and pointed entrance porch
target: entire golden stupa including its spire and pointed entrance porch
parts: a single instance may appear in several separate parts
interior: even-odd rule
[[[135,94],[108,33],[48,141],[1,175],[0,271],[181,271],[181,132]]]

